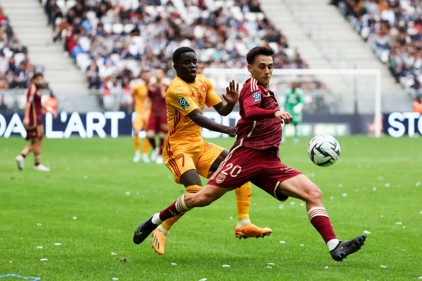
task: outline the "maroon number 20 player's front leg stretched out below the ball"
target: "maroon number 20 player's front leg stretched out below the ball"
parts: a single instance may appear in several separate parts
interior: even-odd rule
[[[322,204],[321,190],[309,178],[295,172],[297,171],[289,167],[286,168],[284,175],[279,177],[280,183],[276,185],[275,196],[278,198],[291,196],[306,203],[306,210],[308,211],[311,224],[327,243],[331,257],[336,261],[342,261],[349,254],[358,251],[364,245],[363,242],[365,242],[366,235],[362,234],[344,242],[339,241],[335,236],[327,211]],[[295,176],[289,177],[289,173],[294,173]]]

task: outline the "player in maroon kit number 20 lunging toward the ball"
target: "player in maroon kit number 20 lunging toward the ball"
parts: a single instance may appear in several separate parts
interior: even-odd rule
[[[274,50],[268,45],[249,51],[246,59],[252,78],[245,82],[239,95],[241,119],[237,123],[235,144],[203,189],[195,194],[181,195],[168,208],[153,214],[138,227],[133,235],[136,244],[165,219],[210,205],[227,191],[251,181],[277,200],[285,201],[289,196],[303,200],[311,224],[325,240],[336,261],[342,261],[361,248],[366,235],[339,241],[323,207],[321,190],[302,173],[280,162],[280,122],[289,124],[292,116],[279,110],[276,97],[270,90],[273,57]]]

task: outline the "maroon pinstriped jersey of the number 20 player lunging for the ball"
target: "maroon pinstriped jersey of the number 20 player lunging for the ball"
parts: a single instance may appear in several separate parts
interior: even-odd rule
[[[252,149],[278,149],[281,141],[280,121],[275,117],[249,121],[245,115],[254,107],[274,112],[280,110],[274,93],[258,85],[254,78],[249,78],[239,94],[239,105],[241,119],[237,123],[237,139],[233,148],[246,146]]]

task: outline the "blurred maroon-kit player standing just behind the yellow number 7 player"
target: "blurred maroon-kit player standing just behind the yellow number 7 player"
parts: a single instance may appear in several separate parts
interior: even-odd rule
[[[146,101],[145,109],[148,108],[147,103],[151,102],[152,105],[146,137],[151,143],[152,149],[154,149],[151,154],[151,161],[155,161],[161,165],[164,163],[162,159],[162,148],[164,146],[165,135],[168,132],[167,106],[165,104],[165,92],[168,89],[168,85],[162,83],[162,79],[164,78],[164,71],[162,69],[157,68],[155,70],[155,78],[157,78],[157,81],[154,84],[148,85],[149,99]],[[155,136],[157,134],[160,138],[160,146],[158,147],[155,143]]]

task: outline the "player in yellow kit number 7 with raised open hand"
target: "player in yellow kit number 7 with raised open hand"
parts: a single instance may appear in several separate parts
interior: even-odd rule
[[[204,105],[212,106],[220,115],[227,116],[237,103],[239,85],[235,87],[235,82],[230,82],[230,88],[227,87],[226,95],[223,95],[225,101],[222,101],[208,78],[197,75],[197,59],[193,49],[177,49],[173,53],[173,63],[177,76],[170,83],[165,97],[169,131],[165,138],[163,159],[173,172],[176,183],[183,184],[187,193],[196,193],[202,188],[199,176],[210,178],[229,153],[221,146],[205,142],[201,127],[231,137],[236,135],[236,127],[227,127],[203,116]],[[249,220],[251,184],[235,189],[235,193],[238,207],[235,236],[240,239],[270,235],[271,229],[257,227]],[[182,215],[166,220],[154,230],[152,247],[158,254],[164,254],[168,232]]]

